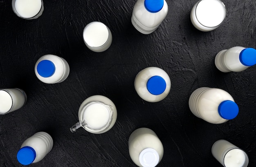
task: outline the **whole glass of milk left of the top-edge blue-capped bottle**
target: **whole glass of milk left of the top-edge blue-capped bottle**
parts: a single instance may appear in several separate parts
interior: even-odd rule
[[[112,43],[110,29],[101,22],[91,22],[83,30],[85,45],[94,52],[106,51]]]

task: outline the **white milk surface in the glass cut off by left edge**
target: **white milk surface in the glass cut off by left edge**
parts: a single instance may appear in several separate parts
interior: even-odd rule
[[[11,109],[11,106],[11,95],[4,90],[0,90],[0,114],[5,114],[8,112]]]

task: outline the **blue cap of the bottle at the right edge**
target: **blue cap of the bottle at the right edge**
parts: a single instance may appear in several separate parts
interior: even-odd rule
[[[256,50],[254,48],[245,48],[240,52],[240,62],[244,66],[253,66],[256,64]]]

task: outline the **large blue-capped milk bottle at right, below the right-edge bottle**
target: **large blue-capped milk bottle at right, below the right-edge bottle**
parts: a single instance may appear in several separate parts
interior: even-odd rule
[[[228,92],[207,87],[198,88],[191,94],[189,108],[198,118],[215,124],[234,119],[239,110]]]

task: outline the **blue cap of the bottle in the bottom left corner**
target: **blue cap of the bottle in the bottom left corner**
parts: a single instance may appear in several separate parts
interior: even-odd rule
[[[18,151],[17,159],[22,165],[29,165],[36,159],[36,152],[32,147],[22,147]]]

